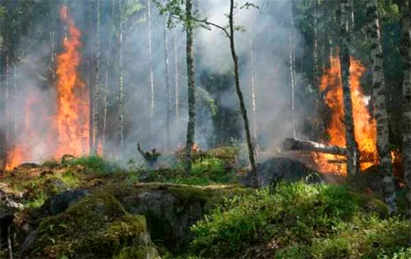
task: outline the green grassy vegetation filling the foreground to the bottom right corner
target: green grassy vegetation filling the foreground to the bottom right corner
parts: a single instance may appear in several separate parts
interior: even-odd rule
[[[273,193],[256,190],[212,210],[192,226],[190,250],[200,257],[236,257],[273,242],[271,257],[277,258],[376,258],[383,249],[392,255],[411,238],[409,222],[384,216],[381,201],[343,186],[279,184]]]

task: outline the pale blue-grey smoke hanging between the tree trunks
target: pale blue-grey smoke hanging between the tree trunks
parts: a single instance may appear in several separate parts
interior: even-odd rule
[[[41,4],[46,1],[37,0]],[[245,1],[238,1],[238,7]],[[90,26],[94,10],[88,1],[74,1],[69,4],[75,25],[82,30],[82,78],[88,82],[88,56],[92,54],[97,36],[95,27]],[[262,6],[263,0],[255,2]],[[150,62],[149,62],[149,27],[147,23],[147,1],[128,1],[127,21],[125,22],[123,45],[124,73],[124,117],[125,117],[125,147],[119,149],[119,27],[116,1],[102,1],[101,14],[101,58],[100,58],[100,89],[99,103],[100,128],[103,127],[103,97],[107,93],[108,116],[105,150],[110,156],[123,158],[139,158],[136,149],[140,143],[143,149],[156,148],[166,151],[166,114],[168,103],[166,96],[166,69],[164,56],[164,26],[165,20],[160,16],[154,4],[151,4],[151,50],[153,64],[154,109],[152,121],[150,118]],[[112,10],[114,7],[114,12]],[[58,8],[58,6],[57,6]],[[195,8],[199,10],[199,18],[225,27],[228,24],[225,14],[229,12],[229,1],[207,0],[197,1]],[[112,14],[115,14],[112,16]],[[55,40],[62,40],[62,25],[58,22],[58,12],[55,15]],[[24,58],[18,60],[18,98],[12,101],[11,110],[17,110],[18,135],[21,140],[29,142],[32,147],[29,159],[40,161],[49,158],[46,136],[29,138],[24,136],[23,125],[27,118],[25,103],[27,98],[38,99],[38,107],[33,106],[30,115],[34,116],[29,123],[31,130],[45,132],[47,118],[55,112],[55,89],[49,84],[51,76],[51,48],[49,18],[45,17],[30,25],[27,34],[19,42],[18,49],[25,49]],[[278,147],[286,136],[292,136],[291,123],[291,92],[289,67],[289,35],[299,39],[297,29],[290,26],[290,1],[270,1],[264,8],[243,8],[236,10],[234,16],[236,25],[245,32],[236,32],[236,51],[240,60],[240,82],[245,96],[248,115],[251,121],[256,119],[258,125],[258,141],[268,149]],[[39,35],[37,32],[41,32]],[[186,142],[187,112],[187,79],[186,79],[186,35],[181,25],[166,31],[169,44],[169,86],[171,88],[171,149],[179,143]],[[111,42],[109,43],[111,38]],[[256,76],[256,114],[251,111],[251,39],[253,41],[253,56]],[[32,42],[32,43],[29,43]],[[301,40],[297,40],[301,42]],[[90,45],[91,43],[91,45]],[[55,51],[61,51],[57,44]],[[111,49],[109,48],[111,46]],[[297,45],[297,55],[302,55],[301,46]],[[176,51],[175,51],[176,50]],[[195,31],[195,71],[197,90],[197,132],[195,142],[202,149],[212,147],[211,136],[214,134],[212,101],[223,108],[234,112],[239,110],[238,98],[234,87],[234,77],[227,90],[208,93],[203,88],[201,75],[214,73],[216,75],[232,75],[232,56],[229,50],[229,40],[220,29],[199,28]],[[177,64],[177,71],[176,66]],[[108,72],[107,72],[108,71]],[[106,82],[105,76],[108,75]],[[178,79],[178,95],[176,103],[176,78]],[[9,75],[8,79],[12,78]],[[297,88],[302,88],[303,76],[297,74]],[[107,90],[104,90],[107,84]],[[298,102],[298,101],[297,101]],[[2,103],[5,106],[5,103]],[[179,115],[176,114],[176,106]],[[302,106],[300,106],[302,107]],[[34,110],[33,110],[34,109]],[[296,121],[302,121],[305,113],[297,110]],[[45,115],[38,115],[45,113]],[[39,119],[44,118],[44,119]],[[215,119],[215,118],[214,118]],[[219,118],[224,120],[224,118]],[[2,121],[3,127],[14,123],[9,117]],[[236,125],[242,128],[242,117],[238,116]],[[301,126],[301,125],[299,125]],[[151,130],[150,130],[151,129]],[[242,130],[241,130],[242,131]],[[8,130],[10,132],[10,130]],[[101,132],[101,130],[100,130]],[[11,140],[12,138],[10,138]]]

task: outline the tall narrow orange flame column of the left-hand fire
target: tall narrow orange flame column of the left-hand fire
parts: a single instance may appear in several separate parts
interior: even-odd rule
[[[82,60],[79,53],[81,33],[67,15],[66,6],[60,10],[60,17],[68,26],[68,36],[63,41],[64,52],[57,58],[58,112],[54,121],[58,132],[58,147],[54,153],[56,158],[65,153],[74,156],[88,153],[90,117],[88,90],[77,71]]]

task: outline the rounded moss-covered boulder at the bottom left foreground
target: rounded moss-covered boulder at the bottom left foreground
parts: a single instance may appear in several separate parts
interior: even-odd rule
[[[22,256],[112,258],[128,250],[137,258],[158,257],[145,218],[125,212],[112,195],[93,194],[43,219]]]

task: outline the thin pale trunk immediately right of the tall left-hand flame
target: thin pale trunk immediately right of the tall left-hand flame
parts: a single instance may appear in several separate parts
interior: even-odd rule
[[[92,116],[92,135],[94,137],[93,143],[93,150],[92,153],[97,153],[98,145],[99,145],[99,95],[100,95],[100,0],[97,0],[97,10],[96,10],[96,31],[97,31],[97,38],[96,38],[96,68],[95,68],[95,93],[94,93],[94,104],[93,108],[93,116]]]

